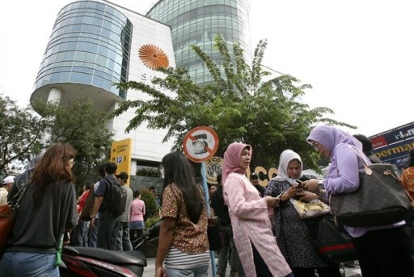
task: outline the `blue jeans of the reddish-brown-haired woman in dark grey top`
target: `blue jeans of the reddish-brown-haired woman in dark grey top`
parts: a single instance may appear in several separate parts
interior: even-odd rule
[[[58,277],[56,254],[5,252],[0,261],[1,277]]]

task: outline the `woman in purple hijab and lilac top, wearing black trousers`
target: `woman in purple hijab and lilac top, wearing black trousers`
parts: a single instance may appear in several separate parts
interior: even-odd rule
[[[331,159],[328,178],[323,182],[303,182],[305,189],[330,194],[350,193],[358,189],[360,174],[365,172],[362,144],[351,135],[332,126],[318,126],[312,130],[308,142],[321,155]],[[356,154],[355,151],[359,153]],[[373,227],[344,226],[351,235],[364,277],[413,277],[414,265],[410,254],[412,242],[405,222]]]

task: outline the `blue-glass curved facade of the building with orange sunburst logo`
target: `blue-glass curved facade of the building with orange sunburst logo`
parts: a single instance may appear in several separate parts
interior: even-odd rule
[[[34,90],[54,83],[92,85],[125,99],[132,23],[105,3],[78,1],[58,14]]]

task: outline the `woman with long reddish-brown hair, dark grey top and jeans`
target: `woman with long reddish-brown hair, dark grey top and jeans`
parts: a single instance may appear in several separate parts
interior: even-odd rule
[[[75,154],[69,144],[54,144],[36,165],[0,261],[0,276],[59,276],[57,249],[77,222]]]

